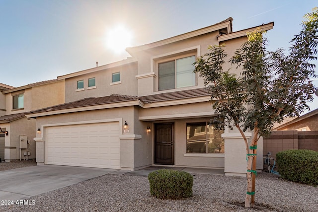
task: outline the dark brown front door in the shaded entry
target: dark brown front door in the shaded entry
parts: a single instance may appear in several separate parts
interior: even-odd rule
[[[155,125],[155,164],[173,165],[173,123]]]

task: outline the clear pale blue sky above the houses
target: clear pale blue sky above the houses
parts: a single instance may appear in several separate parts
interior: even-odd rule
[[[316,0],[0,0],[0,82],[18,87],[123,60],[125,47],[118,52],[107,44],[118,26],[131,34],[131,47],[228,17],[233,31],[273,21],[267,49],[288,50],[315,6]]]

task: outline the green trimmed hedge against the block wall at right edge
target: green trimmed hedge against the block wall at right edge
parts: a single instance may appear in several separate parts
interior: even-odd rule
[[[318,152],[305,149],[281,151],[276,154],[282,178],[308,185],[318,185]]]

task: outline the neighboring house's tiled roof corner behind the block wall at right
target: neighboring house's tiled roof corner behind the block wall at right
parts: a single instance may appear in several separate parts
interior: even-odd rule
[[[279,125],[273,130],[318,131],[318,108],[309,113],[306,113],[305,115],[294,118],[287,123]]]

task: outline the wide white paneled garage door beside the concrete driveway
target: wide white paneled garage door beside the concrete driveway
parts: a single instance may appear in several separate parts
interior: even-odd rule
[[[46,164],[120,169],[119,122],[48,127]]]

